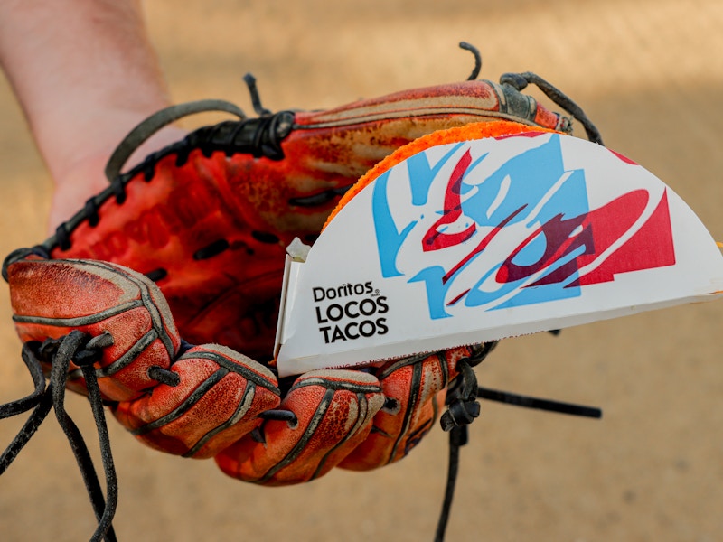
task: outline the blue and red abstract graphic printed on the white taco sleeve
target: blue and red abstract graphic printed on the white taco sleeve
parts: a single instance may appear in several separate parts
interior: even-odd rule
[[[585,170],[564,167],[560,135],[528,136],[535,143],[521,152],[430,149],[376,180],[382,276],[422,283],[431,318],[576,297],[616,274],[675,264],[665,190],[596,194],[591,208]]]

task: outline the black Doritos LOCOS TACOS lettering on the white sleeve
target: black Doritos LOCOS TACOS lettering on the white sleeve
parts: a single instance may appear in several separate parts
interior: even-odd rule
[[[316,323],[324,343],[353,341],[361,337],[389,332],[387,298],[375,290],[371,281],[346,283],[333,288],[312,288]]]

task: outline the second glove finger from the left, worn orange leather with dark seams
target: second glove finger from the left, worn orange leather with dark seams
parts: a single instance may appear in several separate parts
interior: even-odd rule
[[[258,414],[281,401],[274,374],[234,350],[193,347],[171,366],[178,384],[159,384],[113,408],[117,420],[157,450],[207,458],[261,423]]]

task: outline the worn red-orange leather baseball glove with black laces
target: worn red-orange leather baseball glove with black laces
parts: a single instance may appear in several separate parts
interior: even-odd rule
[[[498,133],[520,124],[569,133],[570,118],[521,93],[528,82],[599,142],[582,111],[544,80],[474,80],[478,67],[464,82],[274,114],[247,78],[258,117],[211,100],[170,107],[136,127],[108,163],[108,188],[51,238],[5,260],[36,391],[0,412],[35,408],[0,472],[53,405],[65,419],[65,387],[89,395],[101,432],[102,403],[144,444],[213,457],[230,476],[265,485],[398,461],[427,434],[451,382],[466,391],[455,394],[445,428],[474,419],[470,368],[493,344],[286,379],[277,378],[271,354],[286,246],[313,242],[343,193],[401,145],[470,123],[495,123]],[[197,129],[122,171],[160,127],[207,110],[238,119]],[[51,386],[43,391],[45,377]],[[77,431],[66,432],[84,448]],[[107,466],[107,479],[113,475]],[[105,502],[88,476],[95,536],[112,537],[115,486]]]

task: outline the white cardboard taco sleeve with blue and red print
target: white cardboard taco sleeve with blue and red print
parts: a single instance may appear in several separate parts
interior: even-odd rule
[[[296,261],[295,261],[296,260]],[[529,133],[438,145],[287,258],[281,376],[560,329],[723,290],[723,257],[660,179]]]

